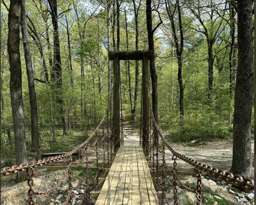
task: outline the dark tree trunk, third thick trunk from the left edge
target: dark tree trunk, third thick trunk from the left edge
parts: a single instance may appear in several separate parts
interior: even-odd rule
[[[61,57],[60,57],[60,41],[59,41],[59,26],[58,26],[58,12],[57,12],[57,0],[48,0],[51,7],[51,19],[53,23],[53,44],[54,44],[54,78],[56,79],[57,85],[57,104],[59,105],[61,114],[61,124],[63,128],[63,134],[67,134],[69,127],[66,119],[66,109],[64,100],[62,97],[62,68],[61,68]]]

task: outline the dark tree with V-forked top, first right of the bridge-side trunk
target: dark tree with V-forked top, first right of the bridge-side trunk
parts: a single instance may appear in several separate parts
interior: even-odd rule
[[[180,107],[180,117],[184,117],[184,103],[183,103],[183,98],[184,98],[184,89],[185,85],[183,86],[183,81],[182,81],[182,53],[183,53],[183,46],[184,46],[184,37],[183,37],[183,28],[182,28],[182,14],[181,14],[181,8],[180,8],[180,2],[179,0],[176,0],[176,3],[173,7],[173,10],[170,7],[170,1],[165,0],[165,5],[166,5],[166,10],[167,14],[169,16],[169,19],[172,24],[172,31],[173,31],[173,37],[174,37],[174,44],[176,48],[176,55],[178,59],[178,82],[179,82],[179,88],[180,88],[180,98],[179,98],[179,107]],[[178,11],[178,19],[179,19],[179,34],[180,38],[177,36],[177,31],[176,31],[176,25],[175,25],[175,13],[176,9]],[[179,42],[180,39],[180,42]]]

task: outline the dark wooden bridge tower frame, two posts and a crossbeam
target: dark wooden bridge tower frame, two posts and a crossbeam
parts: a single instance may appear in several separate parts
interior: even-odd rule
[[[117,60],[118,55],[118,60]],[[120,137],[120,60],[142,60],[142,147],[145,154],[149,150],[149,103],[147,101],[146,83],[149,85],[149,61],[154,57],[153,51],[109,51],[109,59],[113,60],[114,73],[117,76],[116,85],[113,91],[113,121],[112,121],[112,140],[114,150],[116,151],[121,145]],[[118,62],[117,62],[118,61]],[[116,128],[116,129],[115,129]]]

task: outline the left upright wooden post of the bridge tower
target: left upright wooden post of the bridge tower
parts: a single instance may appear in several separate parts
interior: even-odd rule
[[[114,144],[114,152],[120,147],[120,62],[117,58],[114,58],[113,67],[114,74],[116,73],[117,64],[117,75],[116,84],[113,91],[113,123],[112,123],[112,141]]]

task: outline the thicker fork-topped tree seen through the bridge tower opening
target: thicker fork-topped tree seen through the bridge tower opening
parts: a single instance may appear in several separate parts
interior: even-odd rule
[[[141,0],[139,2],[138,7],[136,8],[136,1],[133,2],[133,11],[135,18],[135,50],[139,49],[139,28],[138,28],[138,13],[141,5]],[[136,118],[136,110],[137,110],[137,96],[138,96],[138,83],[139,83],[139,61],[135,61],[135,90],[134,90],[134,108],[133,108],[133,117]]]

